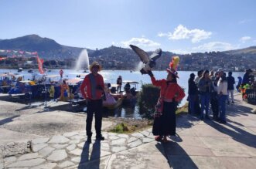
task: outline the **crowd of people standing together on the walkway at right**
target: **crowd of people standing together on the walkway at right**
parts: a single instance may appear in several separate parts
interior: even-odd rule
[[[243,79],[238,76],[237,92],[241,92],[244,96],[244,86],[254,84],[254,76],[251,75],[251,69],[247,69]],[[210,107],[213,112],[213,120],[219,123],[227,123],[226,120],[226,104],[234,104],[234,85],[235,79],[232,72],[228,72],[228,76],[223,69],[218,69],[216,73],[209,70],[197,72],[189,76],[189,113],[199,114],[200,120],[210,120]]]

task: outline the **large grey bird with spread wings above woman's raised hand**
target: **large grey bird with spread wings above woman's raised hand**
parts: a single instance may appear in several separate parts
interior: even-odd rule
[[[155,66],[155,60],[159,59],[162,54],[162,49],[156,49],[151,56],[148,56],[147,52],[138,48],[137,46],[130,45],[130,47],[139,56],[142,63],[145,64],[145,66],[140,70],[142,74],[148,73],[148,70],[151,70]]]

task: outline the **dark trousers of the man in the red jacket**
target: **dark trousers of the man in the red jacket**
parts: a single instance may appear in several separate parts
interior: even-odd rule
[[[87,120],[86,120],[86,133],[88,137],[91,137],[91,122],[95,115],[95,130],[96,135],[101,136],[101,124],[102,124],[102,100],[90,100],[87,103]]]

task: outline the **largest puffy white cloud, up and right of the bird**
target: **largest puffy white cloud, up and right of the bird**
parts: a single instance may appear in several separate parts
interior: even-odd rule
[[[159,37],[167,36],[169,39],[180,40],[180,39],[191,39],[191,42],[200,42],[203,39],[209,39],[212,32],[207,32],[203,29],[187,29],[183,25],[178,25],[174,32],[158,34]]]

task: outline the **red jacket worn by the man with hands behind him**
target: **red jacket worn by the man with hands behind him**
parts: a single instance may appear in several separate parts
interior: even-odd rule
[[[104,91],[102,91],[102,90],[104,90],[103,77],[100,74],[97,74],[97,76],[94,76],[96,84],[95,84],[95,86],[91,86],[90,77],[89,77],[90,74],[88,74],[87,76],[84,77],[84,81],[80,86],[81,93],[84,96],[84,99],[100,100],[102,93],[104,92]],[[101,86],[102,90],[97,89],[97,86]],[[92,96],[92,87],[94,87],[94,90],[96,91],[95,98],[93,98],[93,96]]]

